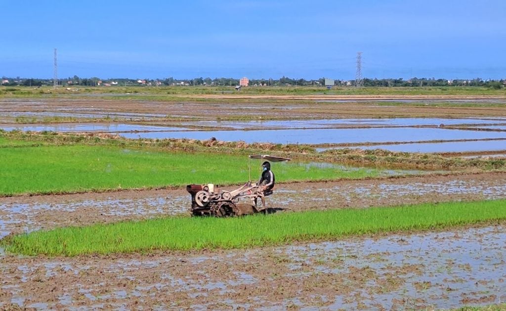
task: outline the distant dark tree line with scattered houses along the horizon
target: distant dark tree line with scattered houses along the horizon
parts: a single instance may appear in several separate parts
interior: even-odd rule
[[[8,81],[8,82],[6,82]],[[18,77],[2,77],[2,86],[52,86],[53,79],[26,79]],[[324,86],[325,78],[317,80],[292,79],[282,76],[279,79],[250,79],[249,86]],[[168,77],[165,79],[100,79],[99,77],[81,78],[77,75],[66,79],[58,79],[60,86],[238,86],[239,79],[232,77],[220,77],[211,79],[210,77],[196,77],[194,79],[174,79]],[[355,80],[334,80],[335,86],[355,86]],[[435,79],[435,78],[417,78],[410,80],[399,79],[369,79],[364,78],[361,81],[364,87],[490,87],[500,89],[506,85],[506,80],[483,80],[476,78],[466,79]]]

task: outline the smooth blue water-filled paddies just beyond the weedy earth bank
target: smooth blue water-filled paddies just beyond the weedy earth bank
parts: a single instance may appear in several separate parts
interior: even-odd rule
[[[500,124],[497,126],[486,124]],[[466,127],[454,127],[465,124]],[[404,142],[396,145],[363,146],[363,149],[387,149],[404,152],[463,152],[503,150],[504,141],[462,141],[505,139],[504,120],[486,119],[332,119],[292,121],[182,122],[176,126],[129,123],[71,123],[54,125],[3,125],[6,131],[94,132],[125,138],[188,138],[223,141],[271,142],[289,144],[357,144]],[[202,127],[195,129],[196,125]],[[451,126],[451,128],[445,128]],[[214,128],[215,130],[209,130]],[[481,131],[478,129],[491,129]],[[413,142],[424,142],[415,144]],[[435,141],[435,142],[428,142]],[[445,142],[446,141],[446,142]],[[318,151],[324,150],[319,148]]]

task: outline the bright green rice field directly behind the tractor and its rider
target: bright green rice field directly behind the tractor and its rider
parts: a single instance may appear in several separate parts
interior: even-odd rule
[[[2,141],[0,141],[2,143]],[[190,183],[237,184],[248,180],[244,155],[151,151],[115,146],[4,147],[0,153],[0,195],[62,193]],[[252,178],[260,166],[252,160]],[[256,166],[255,166],[256,165]],[[347,170],[299,162],[274,164],[278,181],[377,176],[377,170]]]

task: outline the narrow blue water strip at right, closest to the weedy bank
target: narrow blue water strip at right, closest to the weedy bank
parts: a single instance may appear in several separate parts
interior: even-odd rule
[[[340,147],[342,148],[342,147]],[[353,146],[358,149],[385,149],[399,152],[471,152],[471,151],[495,151],[506,150],[506,139],[504,140],[477,140],[477,141],[451,141],[434,143],[407,143],[407,144],[386,144],[374,146]],[[316,148],[321,152],[335,148]]]

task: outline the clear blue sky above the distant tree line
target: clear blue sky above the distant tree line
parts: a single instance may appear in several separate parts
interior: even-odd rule
[[[506,77],[505,0],[0,0],[0,76]]]

